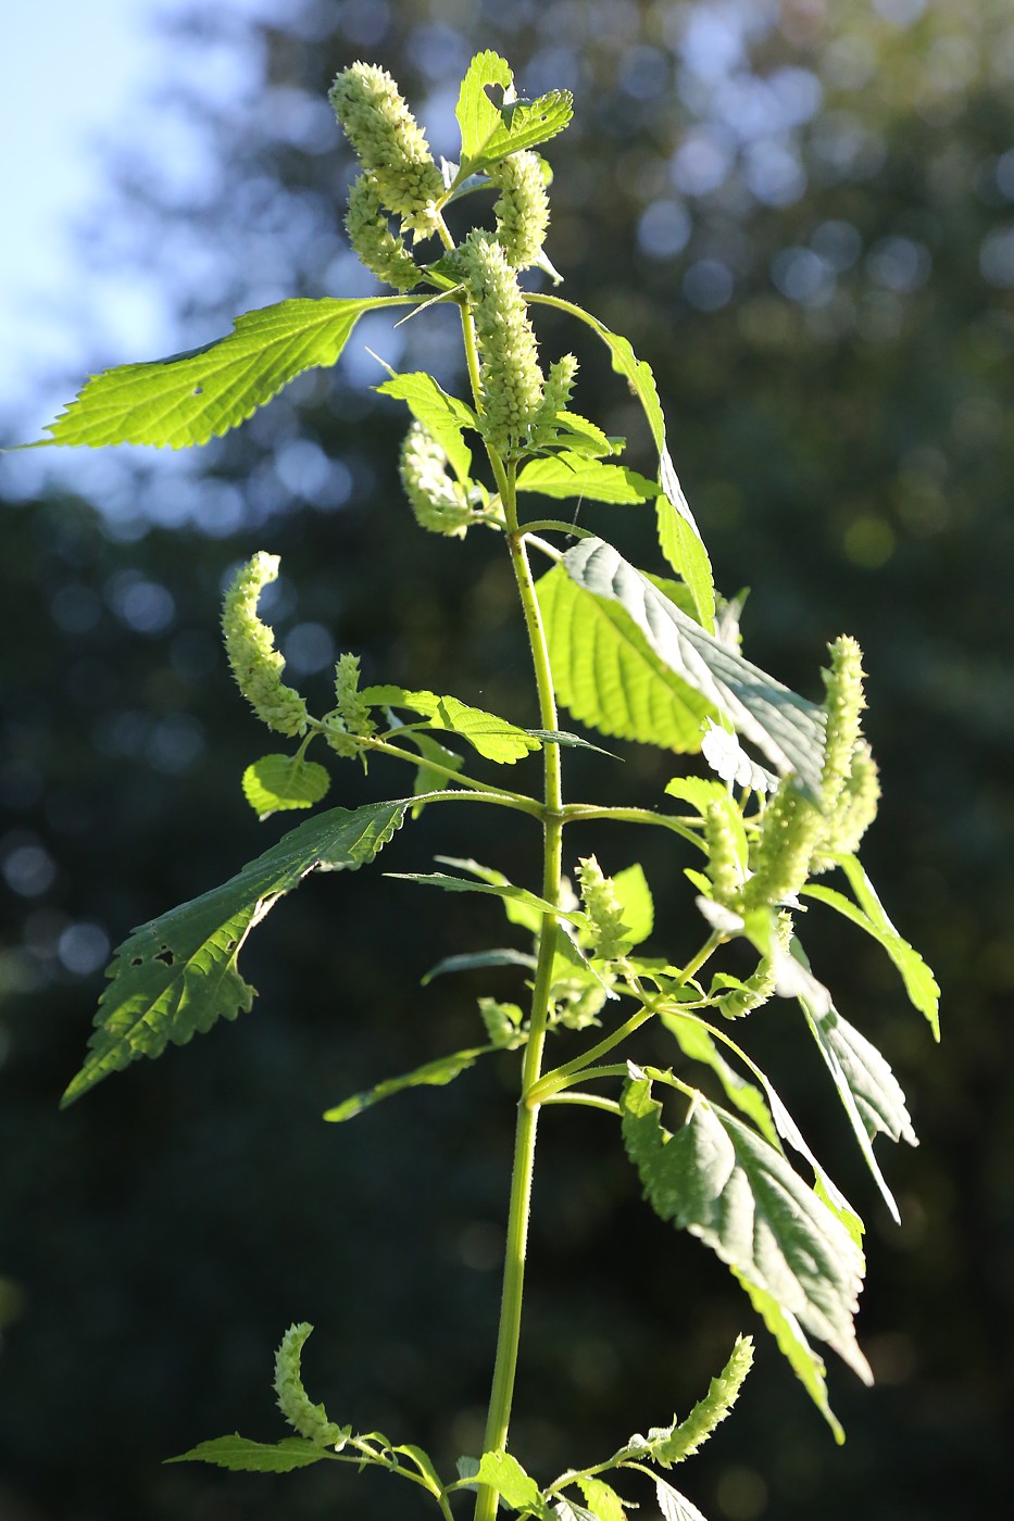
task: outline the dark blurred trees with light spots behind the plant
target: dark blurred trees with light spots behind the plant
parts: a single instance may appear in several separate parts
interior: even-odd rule
[[[732,1422],[674,1477],[713,1521],[834,1521],[859,1506],[871,1521],[1003,1513],[1014,1404],[1009,11],[920,0],[276,11],[271,24],[228,6],[166,23],[195,56],[247,50],[262,88],[228,119],[196,93],[166,100],[206,135],[204,193],[163,184],[139,143],[113,166],[116,192],[96,208],[82,260],[164,271],[177,347],[224,332],[248,306],[364,294],[341,230],[352,164],[324,102],[338,68],[358,56],[388,67],[448,154],[474,52],[502,52],[528,94],[574,90],[576,122],[548,151],[547,248],[562,294],[652,364],[719,586],[752,589],[748,654],[816,697],[827,640],[847,630],[863,645],[885,780],[865,858],[944,990],[936,1049],[872,943],[845,925],[808,928],[818,970],[888,1054],[921,1136],[918,1151],[882,1154],[898,1230],[853,1157],[798,1016],[766,1013],[772,1075],[869,1223],[860,1340],[878,1383],[863,1392],[830,1369],[848,1428],[837,1450],[761,1337]],[[643,423],[607,364],[554,318],[539,313],[537,325],[547,357],[579,353],[580,411],[627,433],[632,462],[650,470]],[[306,1377],[335,1419],[420,1442],[445,1468],[481,1442],[512,1062],[350,1127],[318,1116],[472,1043],[478,993],[518,996],[507,973],[419,986],[438,955],[504,940],[484,900],[434,900],[381,870],[318,878],[247,948],[260,998],[236,1028],[56,1112],[107,943],[222,881],[286,827],[259,826],[239,792],[263,748],[216,640],[222,578],[239,557],[282,554],[271,616],[311,700],[326,701],[333,640],[362,656],[367,678],[533,721],[505,567],[492,538],[445,545],[414,529],[393,465],[403,417],[368,389],[379,373],[362,342],[461,386],[451,313],[397,338],[364,329],[355,360],[303,377],[184,470],[120,452],[100,500],[62,484],[3,506],[2,1521],[420,1513],[416,1492],[384,1475],[160,1466],[236,1428],[280,1434],[271,1352],[291,1320],[317,1325]],[[126,357],[149,356],[96,364]],[[582,520],[662,569],[636,517]],[[623,753],[621,770],[572,759],[571,795],[655,806],[676,765]],[[403,788],[384,765],[365,782],[338,770],[330,802]],[[534,881],[534,830],[498,840],[492,812],[428,814],[381,864],[426,870],[435,852],[474,853]],[[688,949],[687,862],[671,844],[617,832],[569,849],[589,846],[607,870],[644,861],[659,923],[671,926],[658,948]],[[685,1413],[735,1332],[758,1329],[714,1259],[639,1203],[603,1116],[547,1121],[512,1436],[540,1477]]]

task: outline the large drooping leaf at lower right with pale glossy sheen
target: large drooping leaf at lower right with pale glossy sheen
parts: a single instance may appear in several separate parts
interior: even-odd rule
[[[647,1078],[626,1084],[621,1106],[624,1142],[655,1212],[699,1237],[868,1383],[853,1328],[862,1252],[786,1157],[700,1094],[674,1135]]]

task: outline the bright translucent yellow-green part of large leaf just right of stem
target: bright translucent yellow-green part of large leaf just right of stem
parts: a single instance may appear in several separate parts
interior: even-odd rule
[[[700,748],[714,709],[659,660],[624,608],[583,592],[563,566],[536,590],[557,697],[574,718],[617,739]]]

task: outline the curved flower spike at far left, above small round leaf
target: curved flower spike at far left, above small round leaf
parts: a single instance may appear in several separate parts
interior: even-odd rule
[[[279,578],[279,557],[263,551],[241,566],[222,602],[225,654],[236,684],[262,724],[277,735],[305,735],[306,703],[282,681],[285,659],[274,648],[274,634],[257,618],[257,598]]]

